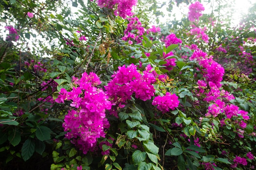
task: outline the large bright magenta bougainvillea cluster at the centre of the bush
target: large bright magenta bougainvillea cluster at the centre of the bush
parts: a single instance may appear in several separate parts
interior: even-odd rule
[[[112,103],[118,108],[123,108],[127,100],[131,99],[131,95],[146,101],[155,95],[155,89],[152,84],[155,83],[155,76],[151,73],[152,67],[146,66],[143,74],[137,71],[137,66],[130,64],[129,66],[118,67],[112,75],[112,79],[105,86],[106,93],[110,96]],[[115,110],[111,114],[117,117]]]

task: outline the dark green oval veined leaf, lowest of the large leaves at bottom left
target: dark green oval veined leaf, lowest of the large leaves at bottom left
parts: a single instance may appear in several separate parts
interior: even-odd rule
[[[22,148],[21,148],[21,156],[24,161],[27,161],[35,152],[35,142],[31,140],[31,138],[27,139]]]

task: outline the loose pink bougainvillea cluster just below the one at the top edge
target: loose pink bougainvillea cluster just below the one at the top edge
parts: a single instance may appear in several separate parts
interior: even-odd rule
[[[141,26],[141,22],[139,22],[139,18],[137,17],[128,18],[128,21],[129,24],[127,24],[122,40],[135,40],[137,43],[140,43],[140,37],[145,33],[144,27]]]

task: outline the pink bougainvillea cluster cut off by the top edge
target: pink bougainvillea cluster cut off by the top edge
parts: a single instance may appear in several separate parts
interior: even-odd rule
[[[99,7],[115,9],[114,14],[122,18],[132,16],[132,7],[137,4],[137,0],[96,0]]]

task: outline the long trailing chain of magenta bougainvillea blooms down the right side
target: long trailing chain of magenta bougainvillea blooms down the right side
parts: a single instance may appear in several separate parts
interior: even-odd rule
[[[195,92],[198,96],[205,95],[204,101],[211,102],[205,116],[217,117],[219,114],[224,114],[228,119],[232,117],[237,119],[237,117],[241,116],[233,123],[238,124],[240,128],[246,128],[245,121],[249,119],[248,113],[244,110],[239,110],[238,106],[227,104],[227,101],[235,99],[235,97],[221,89],[222,84],[220,82],[225,73],[224,68],[213,61],[212,56],[208,56],[207,53],[200,50],[195,50],[189,59],[197,60],[198,64],[202,66],[202,75],[205,81],[198,80],[199,91],[196,90]],[[222,119],[221,124],[225,125],[224,119]],[[239,137],[243,137],[243,130],[238,129],[237,134]]]

